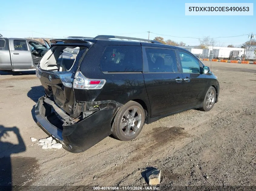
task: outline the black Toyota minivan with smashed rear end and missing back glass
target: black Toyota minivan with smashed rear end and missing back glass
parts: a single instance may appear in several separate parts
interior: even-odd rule
[[[218,101],[216,76],[185,49],[107,35],[51,42],[36,70],[45,96],[35,115],[70,152],[111,134],[132,140],[144,123],[193,108],[209,111]],[[62,58],[66,48],[79,49],[75,59]]]

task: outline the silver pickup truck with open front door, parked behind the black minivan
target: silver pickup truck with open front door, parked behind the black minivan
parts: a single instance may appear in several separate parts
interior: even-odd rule
[[[45,40],[44,42],[45,44],[32,39],[4,38],[0,35],[0,70],[35,70],[50,49],[50,45]],[[61,56],[73,59],[73,55],[68,52],[63,52]]]

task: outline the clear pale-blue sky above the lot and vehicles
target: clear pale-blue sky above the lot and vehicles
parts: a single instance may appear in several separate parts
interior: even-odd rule
[[[146,31],[196,38],[256,33],[255,11],[254,16],[185,16],[185,2],[207,1],[2,1],[0,33],[5,37],[32,37],[29,31],[36,31],[34,37],[49,38],[98,34],[148,38]],[[225,1],[228,2],[243,1]],[[160,36],[153,33],[150,39]],[[199,43],[197,39],[161,36],[187,45]],[[248,36],[214,40],[218,46],[239,45],[247,41]]]

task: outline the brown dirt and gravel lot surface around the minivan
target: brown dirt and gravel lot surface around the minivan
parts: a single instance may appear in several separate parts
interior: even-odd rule
[[[47,137],[34,117],[44,95],[40,81],[2,72],[0,185],[145,186],[153,167],[162,171],[161,185],[256,185],[256,65],[204,63],[221,86],[211,111],[165,117],[145,125],[133,141],[110,136],[78,154],[31,142]]]

